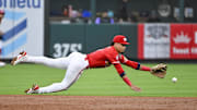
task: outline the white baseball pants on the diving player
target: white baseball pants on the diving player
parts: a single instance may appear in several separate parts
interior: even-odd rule
[[[27,56],[24,62],[38,63],[67,70],[65,78],[60,83],[54,83],[49,86],[40,87],[35,91],[35,94],[55,93],[68,89],[80,77],[82,71],[89,65],[85,57],[86,54],[82,54],[80,52],[72,52],[69,57],[58,59]]]

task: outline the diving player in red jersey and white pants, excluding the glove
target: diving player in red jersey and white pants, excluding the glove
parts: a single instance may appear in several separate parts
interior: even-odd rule
[[[127,41],[127,38],[125,36],[116,35],[111,46],[91,52],[89,54],[72,52],[66,58],[50,59],[46,57],[31,57],[23,51],[12,60],[11,64],[15,65],[20,62],[31,62],[67,70],[66,75],[60,83],[54,83],[46,87],[33,85],[32,88],[25,90],[26,94],[44,94],[66,90],[80,77],[83,70],[93,68],[106,68],[111,64],[115,66],[119,76],[132,90],[140,91],[141,89],[139,87],[131,84],[120,63],[136,70],[148,72],[153,72],[153,70],[151,68],[141,65],[138,62],[130,61],[125,56],[123,56],[121,53],[125,51],[127,45],[129,45],[129,42]],[[164,77],[164,75],[162,75],[161,77]]]

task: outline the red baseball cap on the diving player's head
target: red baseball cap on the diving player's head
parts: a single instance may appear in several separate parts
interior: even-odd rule
[[[113,39],[113,42],[119,42],[123,45],[130,45],[129,42],[127,42],[127,38],[123,35],[116,35]]]

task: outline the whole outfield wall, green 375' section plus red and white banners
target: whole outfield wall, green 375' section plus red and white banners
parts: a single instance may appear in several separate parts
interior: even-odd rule
[[[114,35],[123,34],[129,42],[125,56],[137,60],[197,59],[196,24],[89,25],[50,23],[49,57],[70,52],[92,52],[111,45]]]

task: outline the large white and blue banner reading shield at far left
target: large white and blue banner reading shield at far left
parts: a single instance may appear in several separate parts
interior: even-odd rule
[[[44,1],[0,0],[0,10],[5,12],[0,24],[1,58],[13,58],[23,50],[44,54]]]

